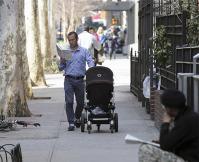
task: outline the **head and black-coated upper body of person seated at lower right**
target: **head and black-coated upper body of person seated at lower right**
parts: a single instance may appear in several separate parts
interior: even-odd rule
[[[166,90],[161,95],[166,109],[160,130],[160,147],[189,162],[199,162],[199,115],[186,106],[186,99],[178,90]],[[170,128],[171,122],[173,128]]]

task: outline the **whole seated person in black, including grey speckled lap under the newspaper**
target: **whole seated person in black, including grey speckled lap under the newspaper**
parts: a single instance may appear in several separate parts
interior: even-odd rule
[[[199,162],[199,115],[186,106],[182,92],[168,89],[160,96],[165,108],[160,148],[143,144],[139,162]]]

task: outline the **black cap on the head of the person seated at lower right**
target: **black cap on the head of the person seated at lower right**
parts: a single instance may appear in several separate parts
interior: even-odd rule
[[[160,101],[165,107],[183,109],[186,107],[185,95],[177,89],[166,89],[160,95]]]

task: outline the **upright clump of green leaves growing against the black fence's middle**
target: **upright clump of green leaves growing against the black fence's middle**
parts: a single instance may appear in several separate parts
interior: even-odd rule
[[[155,29],[156,37],[153,39],[153,52],[156,65],[165,67],[171,56],[171,43],[166,37],[166,28],[160,25]]]

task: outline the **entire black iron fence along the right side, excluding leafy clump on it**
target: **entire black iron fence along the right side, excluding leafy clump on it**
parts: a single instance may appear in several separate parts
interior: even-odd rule
[[[154,69],[160,73],[161,89],[177,88],[177,73],[191,71],[192,61],[190,58],[192,56],[185,54],[187,51],[185,52],[184,49],[180,49],[187,46],[187,20],[190,19],[190,13],[187,11],[193,5],[195,9],[199,9],[198,0],[188,0],[183,5],[175,0],[139,1],[138,51],[131,53],[131,91],[138,96],[138,100],[145,100],[142,95],[145,76],[150,76],[151,87],[153,86]],[[170,40],[172,47],[168,66],[160,68],[153,64],[153,38],[155,37],[154,29],[161,25],[165,26],[166,37]],[[193,52],[196,49],[191,47],[191,50]],[[190,61],[188,61],[189,63],[186,61],[187,59]],[[193,87],[191,81],[189,82],[190,87]]]

